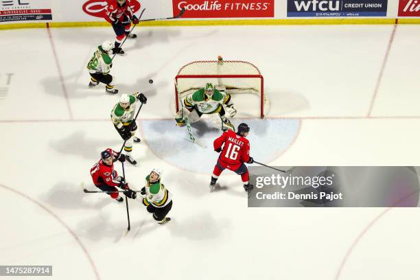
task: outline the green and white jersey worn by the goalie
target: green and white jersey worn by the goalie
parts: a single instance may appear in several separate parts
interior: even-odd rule
[[[184,104],[187,108],[196,106],[200,113],[213,114],[218,113],[222,108],[222,104],[227,104],[229,100],[231,100],[229,93],[215,89],[211,99],[208,99],[207,95],[205,95],[205,89],[199,89],[185,97]]]

